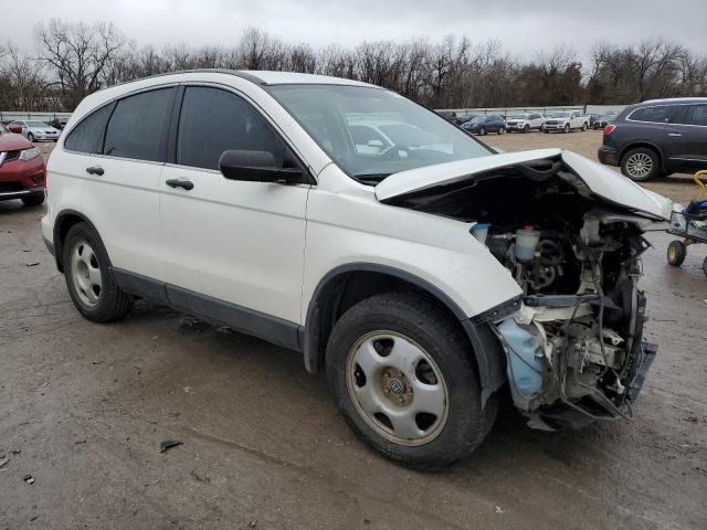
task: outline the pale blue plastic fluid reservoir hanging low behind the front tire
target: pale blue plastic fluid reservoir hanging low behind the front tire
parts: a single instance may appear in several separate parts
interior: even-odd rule
[[[508,379],[519,394],[530,399],[542,388],[545,371],[545,358],[536,354],[540,348],[538,339],[513,318],[500,322],[498,331],[508,348]]]

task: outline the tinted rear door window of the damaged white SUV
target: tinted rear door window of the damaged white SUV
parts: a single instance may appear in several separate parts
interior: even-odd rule
[[[144,92],[115,107],[103,152],[137,160],[161,160],[160,146],[176,88]]]

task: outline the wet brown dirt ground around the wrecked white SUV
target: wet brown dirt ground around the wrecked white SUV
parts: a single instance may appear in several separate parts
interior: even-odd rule
[[[487,139],[593,156],[599,136]],[[296,353],[145,303],[81,318],[42,214],[0,203],[0,530],[707,528],[707,245],[676,269],[650,236],[661,350],[633,422],[544,433],[506,404],[471,458],[422,474],[357,442]]]

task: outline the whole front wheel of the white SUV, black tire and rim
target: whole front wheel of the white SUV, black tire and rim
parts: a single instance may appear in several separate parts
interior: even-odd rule
[[[419,295],[387,293],[350,308],[329,337],[326,371],[357,436],[408,467],[440,469],[467,456],[496,417],[495,395],[482,410],[476,363],[458,324]],[[424,406],[415,405],[420,395],[426,396],[426,415],[424,409],[410,412]]]

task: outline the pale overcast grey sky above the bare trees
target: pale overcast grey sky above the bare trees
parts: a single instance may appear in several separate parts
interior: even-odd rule
[[[498,39],[519,57],[557,43],[587,56],[597,40],[663,35],[707,53],[707,0],[0,0],[0,34],[23,47],[38,22],[61,18],[112,21],[157,45],[230,45],[255,25],[313,45],[458,33]]]

